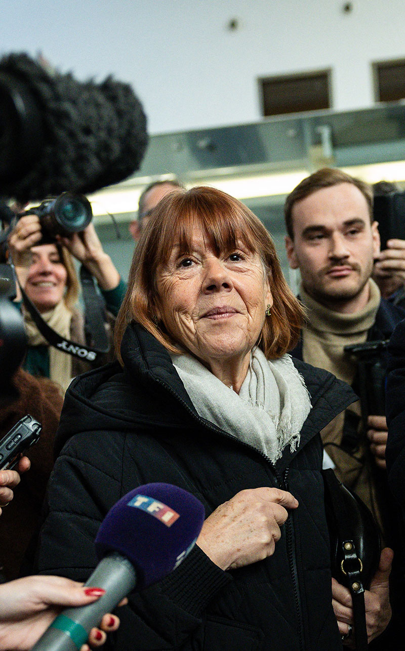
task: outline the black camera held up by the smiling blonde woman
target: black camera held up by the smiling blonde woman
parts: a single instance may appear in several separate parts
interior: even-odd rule
[[[27,210],[25,215],[38,215],[42,232],[54,239],[84,230],[92,219],[91,204],[84,195],[63,192],[56,199],[42,201],[40,206]],[[19,215],[21,217],[21,215]]]

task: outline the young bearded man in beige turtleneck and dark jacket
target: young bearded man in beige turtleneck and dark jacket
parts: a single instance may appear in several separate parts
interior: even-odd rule
[[[344,347],[389,339],[405,316],[404,310],[381,298],[371,279],[380,255],[372,189],[337,169],[321,169],[288,195],[285,220],[288,262],[300,270],[300,299],[307,311],[300,344],[292,355],[329,370],[356,389],[357,361]],[[385,364],[384,356],[381,362]],[[362,432],[358,402],[329,424],[322,440],[326,464],[333,465],[342,482],[372,510],[384,542],[398,548],[393,540],[395,514],[389,515],[393,498],[386,480],[385,415],[369,415],[367,431]],[[394,596],[398,591],[393,586]],[[372,643],[375,648],[388,643],[383,641],[385,635],[389,630]]]

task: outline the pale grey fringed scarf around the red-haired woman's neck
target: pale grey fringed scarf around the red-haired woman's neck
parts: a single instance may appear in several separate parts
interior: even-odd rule
[[[225,432],[264,452],[272,462],[300,445],[311,399],[290,355],[270,361],[260,348],[251,352],[239,395],[192,355],[171,359],[197,413]]]

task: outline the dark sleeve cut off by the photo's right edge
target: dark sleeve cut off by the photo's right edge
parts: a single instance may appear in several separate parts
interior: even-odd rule
[[[388,440],[385,458],[391,491],[405,506],[405,320],[389,342],[386,390]]]

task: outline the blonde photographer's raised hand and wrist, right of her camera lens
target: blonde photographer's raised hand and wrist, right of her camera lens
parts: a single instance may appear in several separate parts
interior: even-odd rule
[[[110,256],[105,253],[92,223],[81,232],[72,233],[68,238],[58,237],[58,241],[84,264],[102,289],[110,290],[117,287],[120,275]]]

